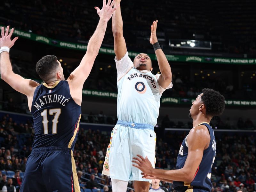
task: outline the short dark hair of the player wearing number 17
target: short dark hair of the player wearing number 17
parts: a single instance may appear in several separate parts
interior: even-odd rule
[[[40,78],[46,82],[47,80],[53,78],[56,72],[56,69],[59,67],[59,63],[57,61],[57,57],[55,55],[46,55],[42,57],[36,63],[36,73],[40,76]]]

